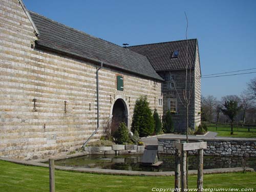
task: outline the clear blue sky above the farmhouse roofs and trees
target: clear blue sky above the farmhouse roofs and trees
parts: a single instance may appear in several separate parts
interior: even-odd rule
[[[198,38],[202,75],[256,68],[256,1],[24,0],[31,11],[122,45]],[[253,70],[256,72],[256,70]],[[249,71],[248,71],[249,72]],[[250,71],[252,72],[252,71]],[[240,94],[256,76],[202,79],[202,94]]]

